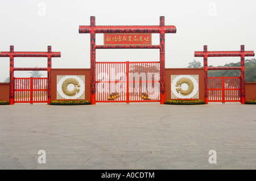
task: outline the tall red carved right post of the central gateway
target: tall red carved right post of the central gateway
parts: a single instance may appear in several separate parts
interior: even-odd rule
[[[164,16],[160,16],[160,104],[164,104],[166,100],[164,29]]]

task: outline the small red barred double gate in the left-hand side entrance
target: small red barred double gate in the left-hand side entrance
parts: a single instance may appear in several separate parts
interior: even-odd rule
[[[14,103],[47,103],[48,78],[15,78]]]

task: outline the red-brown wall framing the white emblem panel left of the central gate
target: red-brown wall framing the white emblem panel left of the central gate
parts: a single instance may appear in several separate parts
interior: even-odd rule
[[[57,99],[57,75],[85,75],[85,100],[90,100],[90,69],[52,69],[51,100]]]

